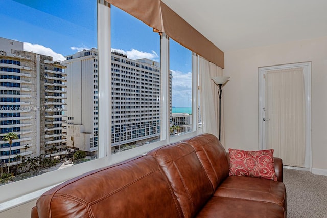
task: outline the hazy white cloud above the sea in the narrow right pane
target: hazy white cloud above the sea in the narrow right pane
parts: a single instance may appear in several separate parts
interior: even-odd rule
[[[191,107],[192,73],[172,72],[172,105],[175,107]]]

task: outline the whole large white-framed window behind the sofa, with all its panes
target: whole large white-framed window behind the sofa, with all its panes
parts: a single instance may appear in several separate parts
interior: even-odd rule
[[[0,7],[0,203],[198,134],[195,55],[165,33],[102,0]]]

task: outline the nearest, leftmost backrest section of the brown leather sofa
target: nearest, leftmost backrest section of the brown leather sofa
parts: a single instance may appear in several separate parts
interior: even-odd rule
[[[152,156],[133,158],[68,180],[45,192],[33,215],[183,217],[167,177]]]

